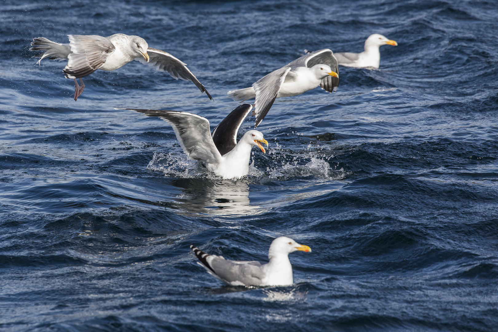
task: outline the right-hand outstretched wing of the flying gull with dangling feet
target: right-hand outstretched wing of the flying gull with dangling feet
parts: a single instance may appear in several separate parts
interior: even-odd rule
[[[161,51],[157,48],[147,48],[147,54],[149,55],[149,62],[147,62],[147,60],[145,60],[143,57],[135,58],[135,60],[140,61],[144,65],[154,67],[160,72],[168,72],[169,75],[171,75],[171,77],[173,77],[175,80],[182,79],[184,81],[192,81],[195,86],[199,88],[199,90],[201,90],[201,93],[205,92],[209,99],[213,100],[213,97],[211,97],[206,88],[187,68],[186,63],[183,63],[168,52]]]

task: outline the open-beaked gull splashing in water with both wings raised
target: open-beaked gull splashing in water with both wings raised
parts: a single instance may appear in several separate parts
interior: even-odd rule
[[[157,116],[168,122],[175,131],[183,152],[192,160],[200,160],[206,168],[223,179],[240,179],[249,174],[250,151],[257,146],[266,153],[263,145],[268,142],[257,130],[249,130],[237,142],[237,132],[252,109],[242,104],[218,124],[213,132],[209,120],[197,114],[180,111],[115,109],[137,111],[148,116]]]

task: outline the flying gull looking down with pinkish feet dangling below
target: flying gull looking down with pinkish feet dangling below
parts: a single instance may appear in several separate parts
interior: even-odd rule
[[[82,77],[92,74],[97,69],[113,71],[123,67],[132,60],[154,67],[161,72],[168,72],[175,80],[179,78],[192,81],[209,99],[213,100],[206,88],[197,80],[194,74],[187,68],[187,64],[181,62],[168,52],[149,47],[147,42],[138,36],[129,36],[123,33],[113,34],[109,37],[97,35],[70,34],[69,44],[59,44],[44,37],[33,38],[30,51],[43,51],[34,55],[40,58],[37,64],[44,58],[50,60],[68,59],[63,70],[66,78],[74,79],[76,86],[74,100],[83,93],[85,84]],[[81,85],[76,79],[80,79]]]

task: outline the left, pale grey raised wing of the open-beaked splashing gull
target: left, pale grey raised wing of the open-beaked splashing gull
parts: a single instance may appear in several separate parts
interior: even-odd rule
[[[171,124],[183,152],[187,154],[189,159],[201,160],[210,164],[221,161],[221,154],[211,138],[209,121],[205,117],[179,111],[118,110],[137,111],[147,116],[157,116]]]

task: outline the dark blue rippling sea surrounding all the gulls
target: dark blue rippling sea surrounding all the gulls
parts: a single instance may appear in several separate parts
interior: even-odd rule
[[[498,331],[498,5],[481,0],[6,0],[0,4],[0,331]],[[72,100],[33,37],[143,37],[214,98],[133,61]],[[187,160],[159,118],[211,128],[227,96],[304,53],[360,52],[337,93],[280,98],[249,176]],[[248,117],[239,137],[253,127]],[[189,245],[267,259],[291,287],[228,287]]]

